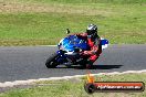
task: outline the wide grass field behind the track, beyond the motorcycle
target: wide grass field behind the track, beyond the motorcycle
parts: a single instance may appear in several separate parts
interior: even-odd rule
[[[0,45],[48,45],[90,23],[111,44],[146,43],[146,0],[4,0]]]

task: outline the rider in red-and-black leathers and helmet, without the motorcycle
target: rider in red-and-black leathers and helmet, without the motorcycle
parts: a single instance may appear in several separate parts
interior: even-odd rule
[[[97,25],[90,24],[86,29],[86,32],[76,35],[84,39],[90,46],[90,51],[84,51],[83,55],[90,56],[85,66],[86,68],[91,68],[93,66],[93,63],[98,58],[100,54],[102,53],[102,45],[100,45],[101,37],[97,34]]]

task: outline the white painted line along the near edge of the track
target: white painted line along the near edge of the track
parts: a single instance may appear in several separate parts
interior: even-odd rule
[[[122,75],[122,74],[131,74],[131,73],[146,73],[146,69],[142,71],[127,71],[127,72],[113,72],[113,73],[98,73],[98,74],[92,74],[95,75]],[[42,80],[59,80],[59,79],[70,79],[70,78],[77,78],[77,77],[84,77],[86,75],[74,75],[74,76],[63,76],[63,77],[50,77],[50,78],[39,78],[39,79],[28,79],[28,80],[15,80],[15,82],[4,82],[0,83],[0,87],[13,87],[15,85],[32,85],[35,82],[42,82]]]

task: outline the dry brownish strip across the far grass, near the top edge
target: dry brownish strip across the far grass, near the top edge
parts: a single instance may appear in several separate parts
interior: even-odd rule
[[[79,13],[84,15],[111,14],[113,12],[95,9],[85,6],[65,6],[65,4],[40,4],[40,3],[4,3],[0,2],[1,13],[14,12],[56,12],[56,13]]]

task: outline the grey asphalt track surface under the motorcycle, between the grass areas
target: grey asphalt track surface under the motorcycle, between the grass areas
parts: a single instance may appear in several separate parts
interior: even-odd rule
[[[0,83],[49,77],[84,75],[76,67],[48,69],[45,60],[58,48],[54,46],[0,47]],[[91,73],[146,69],[146,45],[109,45],[94,63]]]

